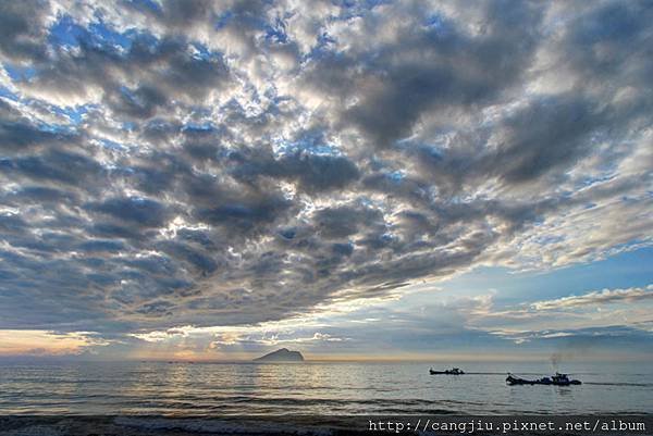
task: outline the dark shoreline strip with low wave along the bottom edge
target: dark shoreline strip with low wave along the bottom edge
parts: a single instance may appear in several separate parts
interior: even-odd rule
[[[643,415],[596,415],[601,422],[613,422],[613,420],[630,420],[631,422],[645,422],[646,431],[602,431],[603,436],[613,435],[653,435],[651,433],[651,423],[653,414]],[[420,420],[426,422],[426,416],[419,415],[397,415],[397,416],[315,416],[315,415],[258,415],[258,416],[164,416],[164,415],[8,415],[0,416],[0,436],[208,436],[208,435],[305,435],[305,436],[341,436],[341,435],[370,435],[370,434],[421,434],[421,435],[442,435],[442,434],[483,434],[500,435],[505,434],[501,431],[498,422],[582,422],[582,420],[593,419],[592,415],[523,415],[523,416],[478,416],[478,415],[442,415],[433,414],[429,420],[443,423],[458,423],[468,425],[468,431],[418,431],[415,428],[404,428],[402,432],[392,428],[382,431],[371,431],[371,425],[375,423],[412,422]],[[494,422],[496,427],[493,432],[482,429],[473,431],[473,423]],[[369,422],[369,424],[368,424]],[[374,423],[374,424],[372,424]],[[556,424],[556,425],[557,425]],[[471,427],[469,427],[471,425]],[[483,424],[485,425],[485,424]],[[515,426],[517,424],[515,423]],[[589,432],[582,431],[527,431],[510,434],[519,435],[558,435],[568,436],[587,435]]]

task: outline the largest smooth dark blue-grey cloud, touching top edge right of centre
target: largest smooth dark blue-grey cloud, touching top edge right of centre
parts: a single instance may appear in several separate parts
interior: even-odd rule
[[[410,136],[424,112],[455,116],[492,103],[521,83],[541,36],[544,11],[530,2],[484,7],[479,35],[468,35],[446,17],[429,25],[412,16],[412,23],[398,26],[392,43],[316,60],[306,80],[325,95],[335,88],[343,90],[343,99],[358,97],[341,113],[341,122],[358,126],[374,146],[389,147]],[[424,17],[436,14],[426,7],[415,12]],[[373,40],[383,32],[386,17],[371,15],[371,23],[380,21],[378,27],[366,23]]]

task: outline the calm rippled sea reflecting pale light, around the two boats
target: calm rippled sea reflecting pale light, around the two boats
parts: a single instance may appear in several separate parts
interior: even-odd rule
[[[506,372],[550,364],[460,363],[0,363],[7,414],[652,413],[653,365],[563,365],[581,386],[506,386]],[[445,369],[446,364],[433,368]]]

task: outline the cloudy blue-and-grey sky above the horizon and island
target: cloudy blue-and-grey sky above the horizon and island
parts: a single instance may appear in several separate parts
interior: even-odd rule
[[[651,23],[0,2],[0,358],[651,359]]]

